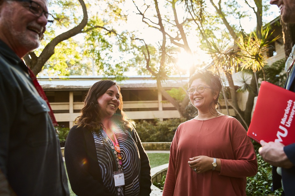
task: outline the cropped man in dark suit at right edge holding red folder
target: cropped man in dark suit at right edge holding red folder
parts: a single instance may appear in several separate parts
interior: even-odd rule
[[[271,0],[270,4],[277,5],[281,12],[281,19],[285,23],[295,23],[294,0]],[[285,70],[289,72],[289,78],[285,89],[295,92],[295,45],[285,64]],[[292,130],[295,131],[295,130]],[[283,188],[283,195],[295,195],[295,143],[284,146],[280,142],[260,141],[262,147],[259,153],[262,158],[273,166],[273,190]]]

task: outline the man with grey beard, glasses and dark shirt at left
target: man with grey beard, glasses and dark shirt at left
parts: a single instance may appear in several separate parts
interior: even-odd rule
[[[69,195],[55,118],[22,60],[39,46],[49,17],[47,0],[0,0],[1,196]]]

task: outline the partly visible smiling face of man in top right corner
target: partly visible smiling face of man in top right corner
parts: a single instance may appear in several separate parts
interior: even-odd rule
[[[295,23],[294,0],[271,0],[269,3],[279,7],[282,21],[286,23]]]

